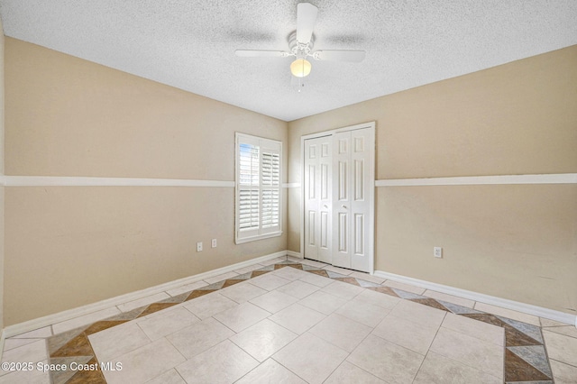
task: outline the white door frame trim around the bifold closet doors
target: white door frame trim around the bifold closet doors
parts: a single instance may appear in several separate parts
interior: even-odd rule
[[[300,203],[299,203],[299,221],[300,221],[300,257],[305,258],[305,140],[307,139],[316,139],[318,137],[323,136],[333,136],[334,133],[341,133],[341,132],[349,132],[349,131],[356,131],[360,129],[369,128],[372,133],[373,143],[372,146],[372,159],[373,163],[372,166],[372,187],[368,191],[369,194],[369,206],[370,206],[370,214],[369,214],[369,236],[370,236],[370,247],[369,254],[371,255],[371,266],[369,269],[369,273],[372,275],[374,272],[375,266],[375,171],[376,171],[376,130],[375,130],[375,122],[368,122],[368,123],[360,123],[355,125],[348,125],[341,128],[336,128],[329,131],[323,131],[319,133],[310,133],[303,136],[300,136]]]

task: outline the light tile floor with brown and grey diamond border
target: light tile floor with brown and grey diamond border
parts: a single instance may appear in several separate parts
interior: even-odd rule
[[[0,383],[562,384],[577,329],[279,258],[14,336],[2,361],[31,364]]]

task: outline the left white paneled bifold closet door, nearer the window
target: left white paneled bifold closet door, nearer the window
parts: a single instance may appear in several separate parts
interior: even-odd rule
[[[305,257],[331,263],[332,139],[305,141]]]

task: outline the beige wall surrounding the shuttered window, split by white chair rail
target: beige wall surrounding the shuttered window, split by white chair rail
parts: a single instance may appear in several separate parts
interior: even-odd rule
[[[235,132],[287,145],[261,114],[11,38],[5,53],[6,175],[233,181]],[[5,325],[287,243],[234,244],[233,187],[6,187],[5,227]]]

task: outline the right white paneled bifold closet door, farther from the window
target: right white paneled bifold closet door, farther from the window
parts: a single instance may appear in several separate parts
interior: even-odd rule
[[[371,271],[373,136],[360,129],[333,136],[334,266]]]

